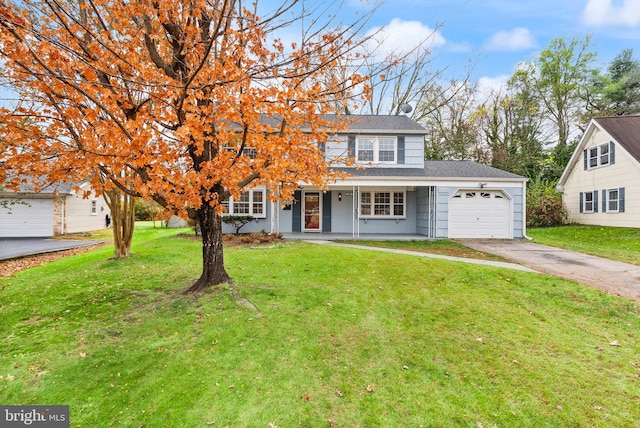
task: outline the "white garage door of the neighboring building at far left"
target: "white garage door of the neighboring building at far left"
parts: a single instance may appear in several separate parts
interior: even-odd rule
[[[53,236],[52,199],[25,199],[9,209],[0,207],[0,237],[45,236]]]

